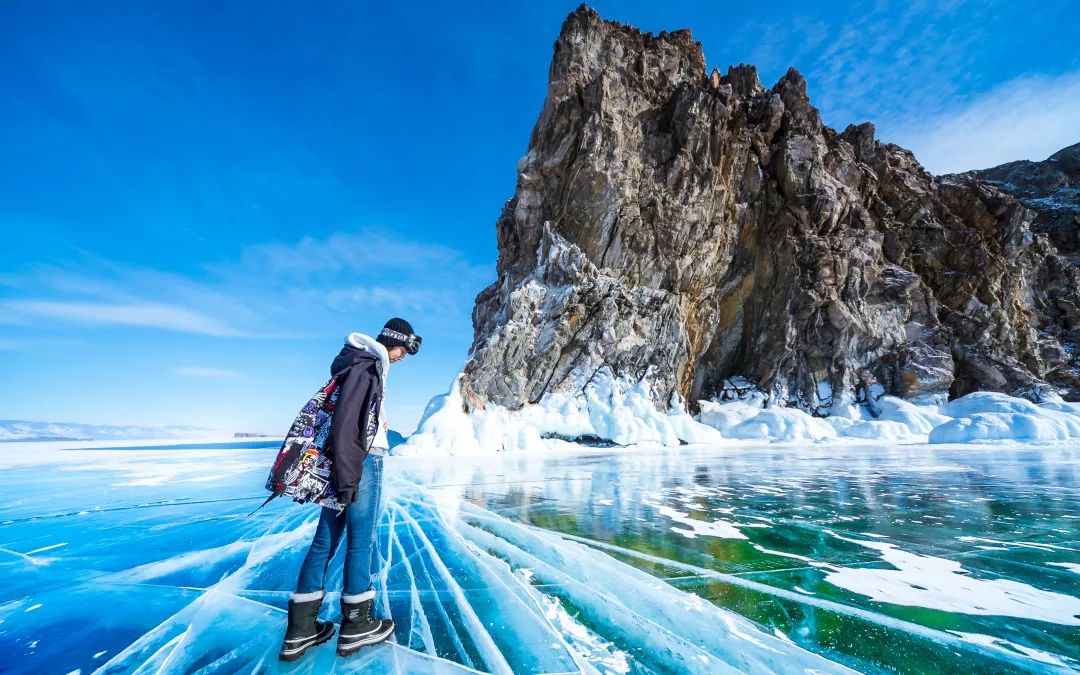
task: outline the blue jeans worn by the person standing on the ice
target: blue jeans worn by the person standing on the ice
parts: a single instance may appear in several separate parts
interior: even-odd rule
[[[379,519],[379,499],[382,496],[382,457],[368,455],[364,460],[356,501],[338,513],[323,509],[311,541],[308,557],[300,567],[296,582],[297,593],[322,591],[326,584],[326,569],[334,557],[341,534],[346,532],[343,595],[359,595],[372,589],[375,563],[375,526]]]

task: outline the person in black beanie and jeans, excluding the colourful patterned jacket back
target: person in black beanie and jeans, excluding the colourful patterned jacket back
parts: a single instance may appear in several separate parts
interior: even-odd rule
[[[376,556],[375,526],[382,491],[382,456],[390,444],[382,397],[387,370],[420,349],[420,336],[404,319],[391,319],[376,339],[353,333],[330,365],[338,377],[338,399],[326,453],[334,460],[330,481],[345,511],[323,509],[308,556],[300,567],[296,593],[288,600],[288,627],[279,654],[295,661],[334,636],[334,624],[319,621],[326,594],[326,569],[345,535],[345,588],[338,656],[390,637],[394,623],[376,619],[372,576]]]

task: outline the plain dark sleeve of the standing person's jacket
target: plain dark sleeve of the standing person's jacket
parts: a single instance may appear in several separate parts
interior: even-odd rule
[[[367,428],[372,402],[378,393],[377,376],[370,367],[352,367],[339,384],[334,419],[326,444],[327,455],[334,460],[332,481],[338,500],[352,501],[360,485],[364,460],[367,458]]]

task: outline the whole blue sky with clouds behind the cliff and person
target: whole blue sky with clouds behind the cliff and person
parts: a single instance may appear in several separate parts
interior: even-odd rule
[[[315,4],[0,4],[0,418],[281,431],[393,315],[391,426],[448,388],[577,3]],[[1080,140],[1070,0],[594,6],[935,172]]]

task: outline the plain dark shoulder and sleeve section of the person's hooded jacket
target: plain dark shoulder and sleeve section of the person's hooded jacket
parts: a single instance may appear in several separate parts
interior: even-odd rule
[[[340,503],[356,498],[367,451],[378,431],[382,407],[382,363],[377,354],[352,345],[330,364],[338,378],[338,399],[330,420],[326,454],[334,460],[330,480]]]

